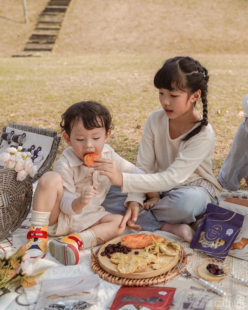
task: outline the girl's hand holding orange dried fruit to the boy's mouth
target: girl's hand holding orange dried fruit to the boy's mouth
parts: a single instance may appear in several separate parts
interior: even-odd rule
[[[122,186],[122,173],[118,170],[114,160],[97,158],[92,165],[94,170],[101,170],[100,175],[106,175],[113,185]]]

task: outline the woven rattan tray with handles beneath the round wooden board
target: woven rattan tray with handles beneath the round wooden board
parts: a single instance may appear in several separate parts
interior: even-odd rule
[[[92,270],[97,273],[102,279],[107,280],[108,282],[119,284],[119,285],[125,285],[125,286],[149,286],[149,285],[156,285],[156,284],[162,284],[163,282],[166,282],[170,280],[171,278],[177,276],[180,271],[177,269],[177,266],[170,269],[166,273],[163,273],[156,277],[150,277],[150,278],[144,278],[144,279],[127,279],[127,278],[121,278],[116,277],[108,272],[106,272],[99,264],[98,261],[98,252],[101,247],[99,247],[94,252],[94,242],[96,240],[101,240],[103,243],[106,243],[107,241],[96,237],[92,243],[91,243],[91,268]],[[189,261],[188,258],[190,257]],[[181,247],[181,250],[179,252],[179,259],[178,263],[183,263],[185,267],[187,267],[193,260],[194,255],[193,254],[186,254],[184,251],[184,248]]]

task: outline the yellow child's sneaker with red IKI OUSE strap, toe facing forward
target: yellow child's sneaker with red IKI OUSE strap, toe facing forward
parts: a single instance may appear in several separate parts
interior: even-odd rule
[[[48,240],[48,225],[35,229],[30,226],[27,239],[26,251],[31,255],[30,258],[44,258]]]

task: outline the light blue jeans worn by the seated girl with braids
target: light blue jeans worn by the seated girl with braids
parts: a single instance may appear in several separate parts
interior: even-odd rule
[[[102,206],[112,214],[124,216],[127,210],[124,206],[126,197],[127,194],[122,193],[119,186],[111,185]],[[201,186],[175,188],[163,192],[160,198],[152,209],[139,211],[136,224],[142,229],[154,232],[164,222],[193,223],[205,212],[208,203],[217,203],[217,198],[212,198]]]

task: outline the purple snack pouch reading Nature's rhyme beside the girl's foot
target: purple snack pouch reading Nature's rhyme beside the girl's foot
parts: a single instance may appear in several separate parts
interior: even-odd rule
[[[224,260],[242,229],[243,221],[243,215],[209,203],[190,244],[191,249]]]

